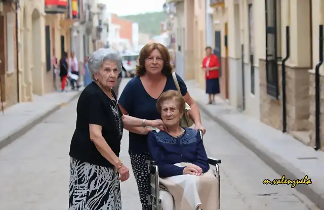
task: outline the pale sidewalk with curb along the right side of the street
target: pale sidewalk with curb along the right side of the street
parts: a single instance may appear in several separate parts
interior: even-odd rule
[[[212,117],[276,173],[292,180],[307,175],[313,184],[297,185],[296,189],[319,209],[324,209],[324,152],[315,151],[290,135],[234,110],[219,98],[216,105],[207,105],[205,90],[197,88],[193,80],[186,81],[186,85],[200,111]]]

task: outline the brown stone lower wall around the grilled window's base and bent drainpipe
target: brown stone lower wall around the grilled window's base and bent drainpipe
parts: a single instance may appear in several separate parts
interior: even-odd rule
[[[281,65],[278,66],[279,100],[266,92],[265,61],[260,67],[260,119],[271,127],[282,130]],[[286,66],[287,131],[310,130],[309,123],[309,76],[306,68]]]

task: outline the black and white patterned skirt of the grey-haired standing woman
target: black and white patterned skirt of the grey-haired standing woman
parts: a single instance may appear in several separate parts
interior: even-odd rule
[[[120,210],[118,173],[70,157],[69,210]]]

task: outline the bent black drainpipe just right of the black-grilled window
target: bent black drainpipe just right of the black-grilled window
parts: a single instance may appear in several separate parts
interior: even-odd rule
[[[282,84],[282,133],[287,132],[287,100],[286,100],[286,61],[290,57],[290,32],[286,26],[286,57],[281,63],[281,84]]]

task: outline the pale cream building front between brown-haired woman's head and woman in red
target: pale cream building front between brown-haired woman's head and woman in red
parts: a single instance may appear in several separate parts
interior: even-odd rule
[[[200,59],[200,49],[205,45],[205,33],[202,39],[195,39],[204,31],[205,18],[201,12],[205,12],[204,1],[197,0],[169,0],[167,1],[171,9],[174,7],[173,30],[176,38],[176,71],[184,79],[193,79],[204,86],[201,82],[202,72],[197,70],[196,60]],[[204,47],[205,48],[205,47]],[[202,61],[202,58],[201,58]],[[201,62],[200,62],[201,63]]]

